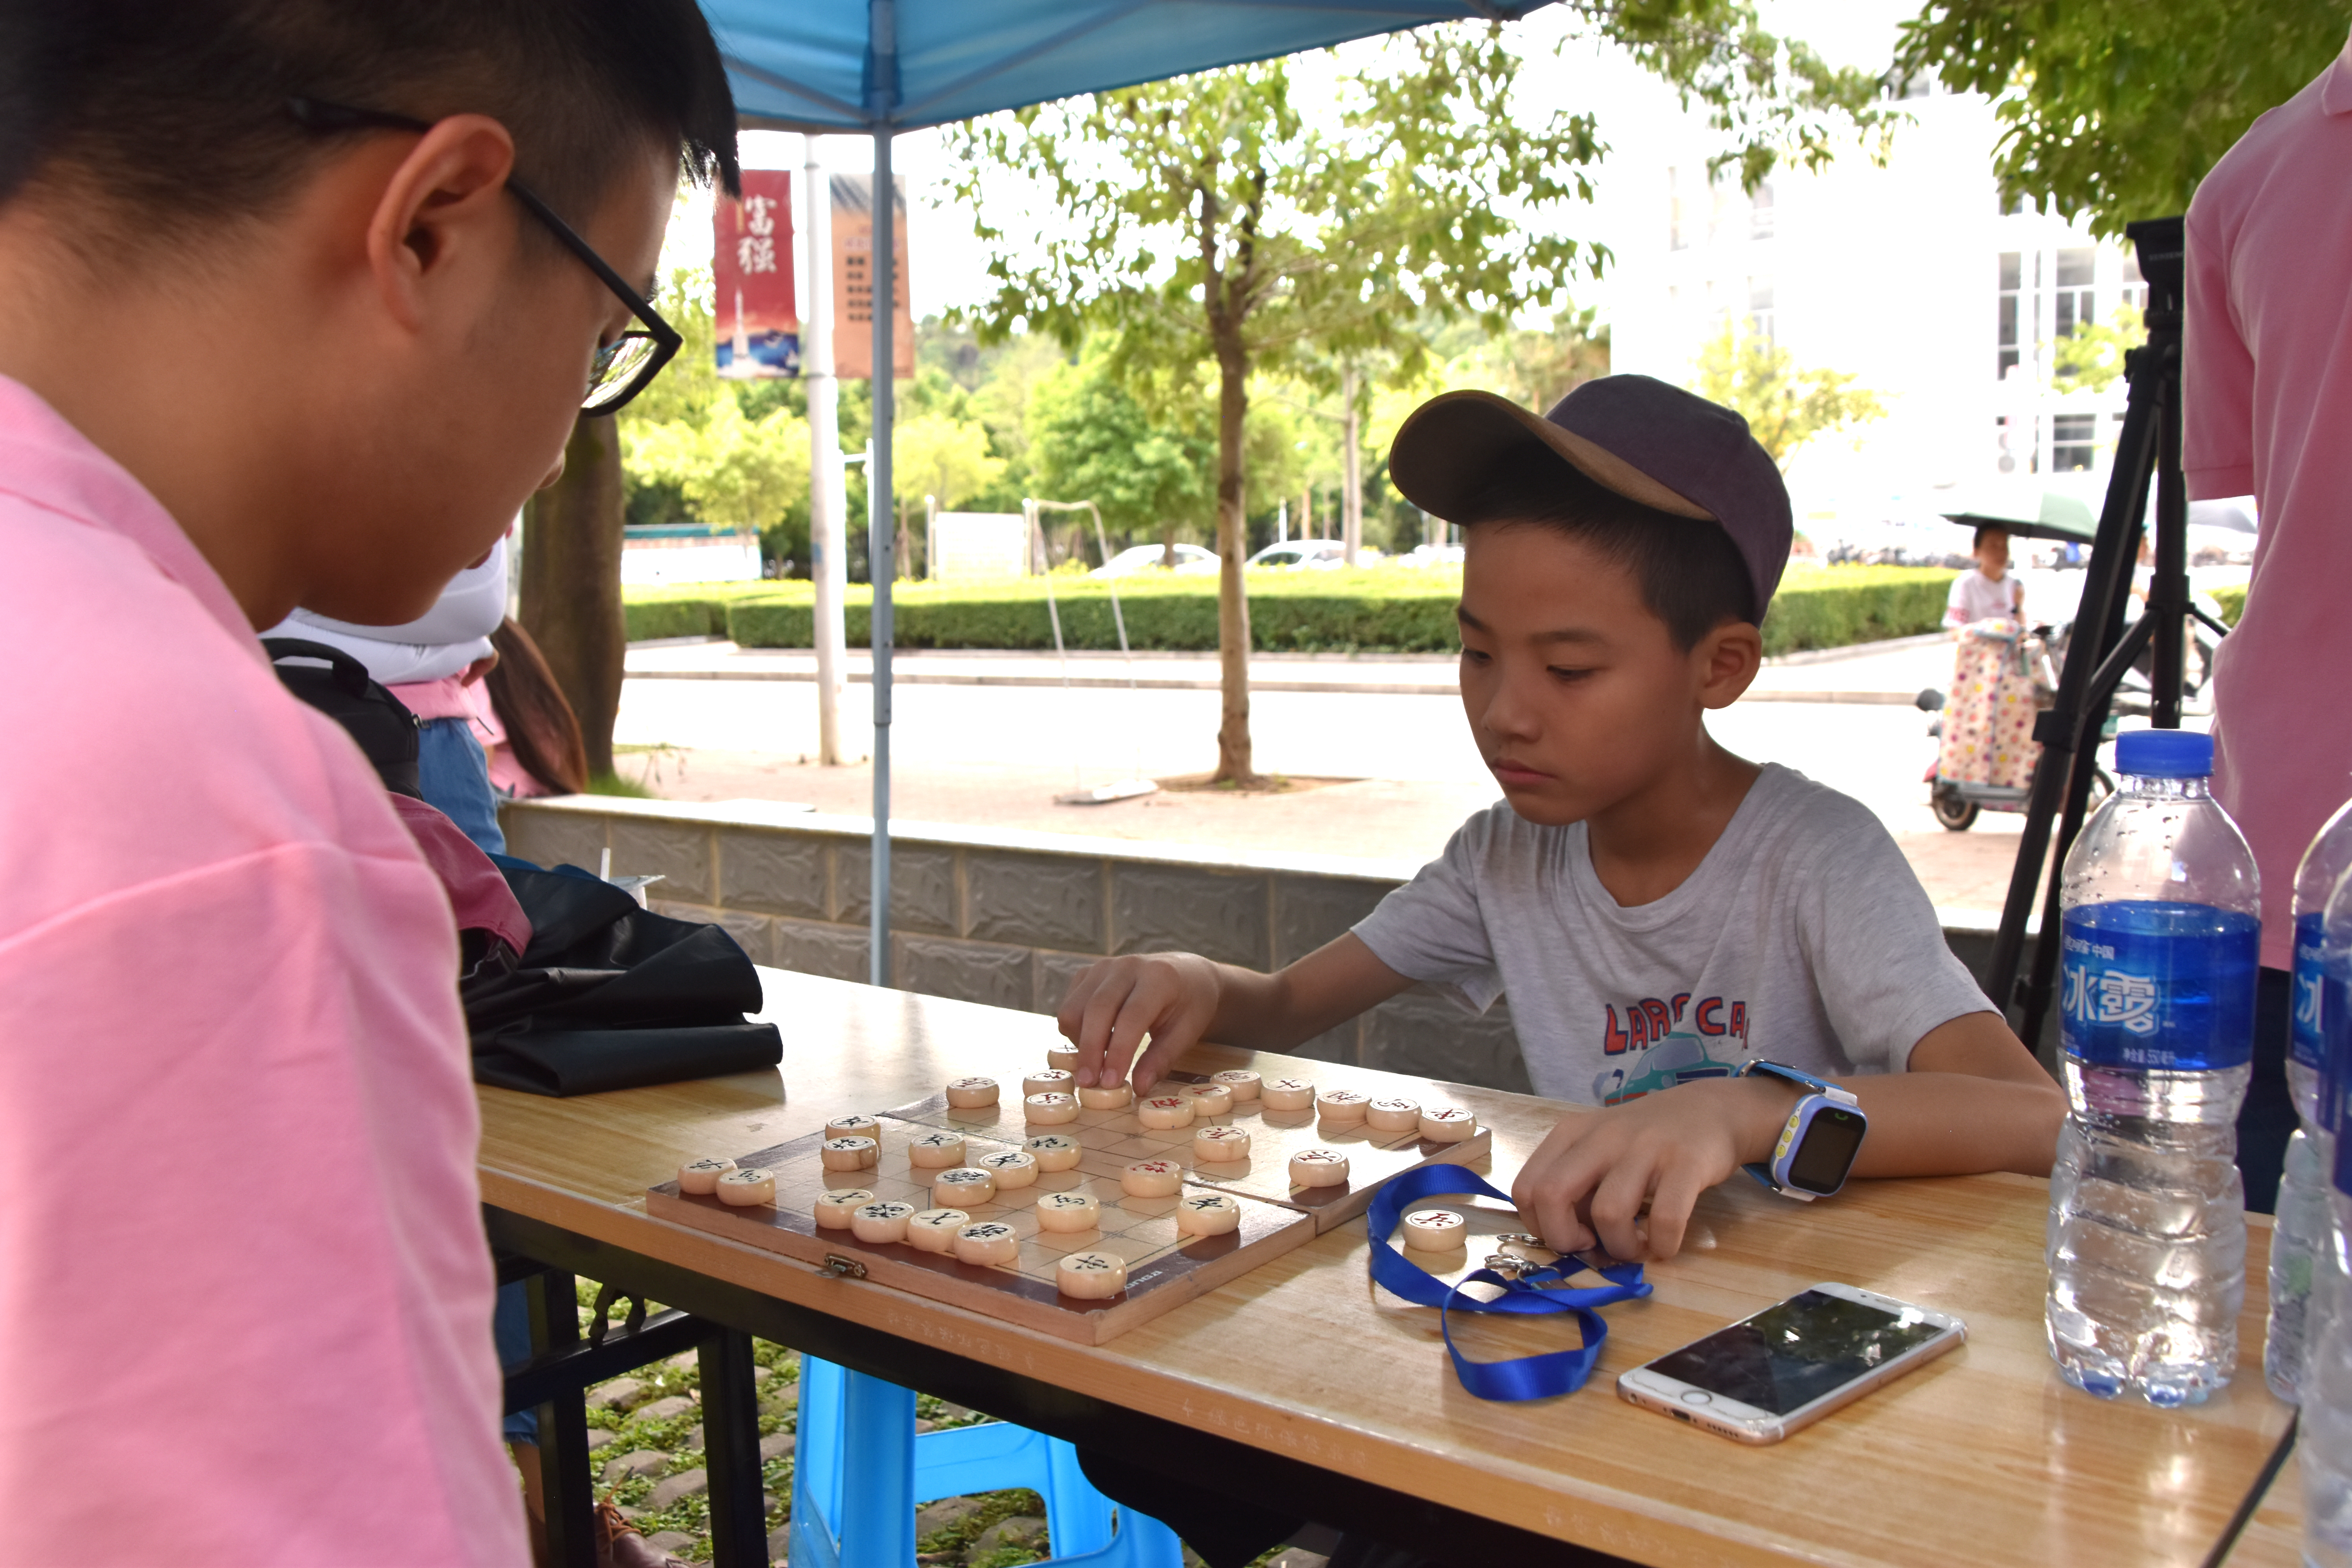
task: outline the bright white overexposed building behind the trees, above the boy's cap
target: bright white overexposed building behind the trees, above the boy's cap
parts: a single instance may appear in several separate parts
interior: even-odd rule
[[[1856,376],[1886,416],[1816,437],[1785,468],[1818,545],[1926,529],[1964,496],[2046,487],[2098,503],[2124,383],[2058,383],[2077,327],[2131,320],[2131,256],[1992,179],[1992,106],[1915,82],[1884,162],[1846,150],[1743,190],[1710,174],[1719,136],[1691,118],[1611,160],[1649,200],[1625,209],[1613,367],[1691,383],[1726,327],[1804,369]],[[2004,484],[2006,482],[2006,484]],[[1966,548],[1964,543],[1959,548]]]

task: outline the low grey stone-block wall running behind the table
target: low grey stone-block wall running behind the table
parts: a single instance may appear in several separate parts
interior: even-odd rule
[[[724,926],[755,961],[866,978],[868,818],[616,797],[515,802],[501,816],[508,849],[524,860],[595,870],[609,849],[612,875],[663,877],[652,889],[656,910]],[[1054,1013],[1087,964],[1122,952],[1181,950],[1279,969],[1343,933],[1416,870],[896,823],[891,980],[931,997]],[[1945,940],[1983,973],[1990,917],[1947,912]],[[1472,1018],[1418,987],[1296,1056],[1529,1088],[1508,1004]]]

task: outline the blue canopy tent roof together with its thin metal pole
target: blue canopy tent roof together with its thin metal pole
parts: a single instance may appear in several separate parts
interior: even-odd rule
[[[875,139],[873,299],[896,280],[891,136],[1000,108],[1319,49],[1430,21],[1503,21],[1548,0],[703,0],[746,127]],[[887,306],[873,313],[891,364]],[[868,973],[889,985],[889,658],[896,576],[891,381],[873,386],[875,837]],[[877,510],[880,508],[880,510]]]

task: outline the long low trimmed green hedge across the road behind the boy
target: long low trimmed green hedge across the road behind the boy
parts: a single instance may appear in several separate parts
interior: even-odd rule
[[[1943,621],[1950,583],[1950,571],[1933,569],[1797,569],[1764,618],[1764,651],[1832,649],[1931,632]],[[1258,651],[1301,654],[1449,654],[1458,646],[1454,637],[1458,597],[1456,571],[1251,574],[1251,644]],[[1054,599],[1068,646],[1120,646],[1105,583],[1056,578]],[[870,590],[851,583],[842,607],[844,637],[851,644],[870,637],[868,602]],[[1054,646],[1042,581],[988,588],[901,583],[894,602],[896,644],[903,649]],[[1124,583],[1120,607],[1127,614],[1127,639],[1136,649],[1216,649],[1214,578]],[[630,595],[628,616],[630,639],[689,637],[708,628],[748,649],[804,649],[811,644],[816,618],[807,583],[743,585],[739,592],[710,592],[701,599],[682,588]]]

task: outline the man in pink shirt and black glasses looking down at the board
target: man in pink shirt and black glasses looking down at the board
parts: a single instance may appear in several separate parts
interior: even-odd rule
[[[0,1519],[524,1563],[449,898],[273,675],[675,353],[691,0],[0,0]],[[666,336],[668,334],[668,336]]]

